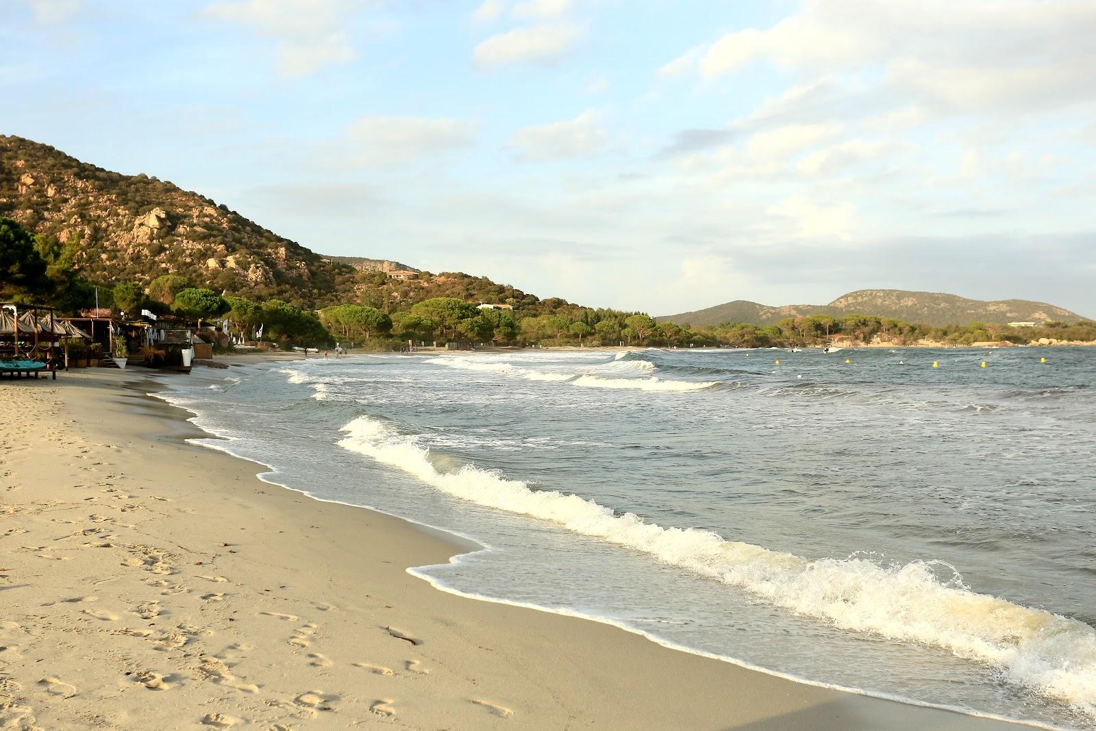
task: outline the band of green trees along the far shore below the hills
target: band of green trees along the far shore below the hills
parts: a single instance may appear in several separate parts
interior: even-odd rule
[[[98,284],[75,264],[78,240],[62,244],[43,235],[33,236],[10,218],[0,218],[0,299],[49,305],[73,315],[98,304],[114,312],[136,315],[147,309],[161,318],[199,323],[227,318],[229,334],[217,343],[221,347],[231,347],[232,340],[252,339],[260,328],[264,341],[282,346],[323,347],[340,342],[380,351],[446,342],[670,347],[1096,342],[1096,322],[1091,320],[1047,321],[1035,327],[982,322],[933,327],[872,315],[815,315],[789,317],[770,325],[680,325],[658,322],[643,312],[541,300],[467,275],[434,277],[455,283],[457,290],[444,293],[449,296],[430,296],[438,294],[437,286],[409,288],[376,272],[358,294],[358,301],[312,309],[307,302],[256,300],[228,289],[218,293],[176,274],[162,274],[147,285],[135,281]]]

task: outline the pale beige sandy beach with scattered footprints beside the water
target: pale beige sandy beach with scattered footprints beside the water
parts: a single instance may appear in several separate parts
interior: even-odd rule
[[[437,591],[459,541],[186,444],[146,377],[0,382],[0,729],[1016,728]]]

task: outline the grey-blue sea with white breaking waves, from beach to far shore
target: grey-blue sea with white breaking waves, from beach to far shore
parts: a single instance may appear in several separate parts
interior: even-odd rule
[[[438,587],[1096,729],[1094,350],[527,350],[228,374],[160,396],[265,479],[484,546],[412,570]]]

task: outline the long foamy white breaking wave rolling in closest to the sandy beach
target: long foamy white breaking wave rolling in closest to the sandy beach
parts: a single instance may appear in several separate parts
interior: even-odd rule
[[[534,491],[498,472],[435,468],[414,437],[369,416],[342,427],[345,449],[396,467],[454,498],[529,515],[654,556],[835,626],[936,646],[995,667],[1009,682],[1096,716],[1096,630],[1075,619],[977,594],[946,564],[884,567],[867,558],[808,560],[696,528],[664,528],[578,495]],[[941,581],[940,567],[949,574]]]

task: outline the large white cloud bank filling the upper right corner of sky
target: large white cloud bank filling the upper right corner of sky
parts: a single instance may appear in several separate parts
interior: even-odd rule
[[[710,80],[756,61],[807,75],[883,68],[889,87],[948,107],[1060,105],[1096,100],[1094,36],[1096,3],[1080,0],[807,0],[663,69]]]

